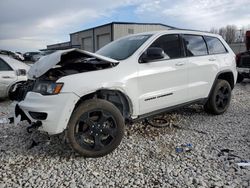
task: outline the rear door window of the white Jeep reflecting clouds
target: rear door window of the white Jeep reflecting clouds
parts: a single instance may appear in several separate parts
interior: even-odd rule
[[[183,42],[188,57],[207,55],[207,46],[202,36],[183,35]]]

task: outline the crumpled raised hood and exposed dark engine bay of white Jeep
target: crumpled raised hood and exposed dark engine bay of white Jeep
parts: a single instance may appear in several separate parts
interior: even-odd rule
[[[29,91],[33,91],[40,82],[56,82],[64,76],[89,71],[112,68],[118,62],[104,56],[79,49],[57,51],[41,58],[28,72],[29,80],[17,85],[11,93],[11,100],[21,101]]]

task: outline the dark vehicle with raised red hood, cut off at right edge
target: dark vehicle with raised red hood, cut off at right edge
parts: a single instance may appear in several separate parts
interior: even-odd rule
[[[237,82],[242,82],[245,78],[250,78],[250,31],[246,32],[245,42],[247,50],[236,56],[238,70]]]

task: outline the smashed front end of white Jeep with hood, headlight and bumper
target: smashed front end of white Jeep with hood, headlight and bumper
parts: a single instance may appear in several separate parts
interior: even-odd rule
[[[116,60],[79,49],[61,50],[41,58],[28,72],[28,81],[17,86],[15,116],[49,134],[64,130],[79,96],[61,92],[65,76],[116,66]],[[58,124],[58,125],[57,125]],[[34,126],[33,126],[34,125]]]

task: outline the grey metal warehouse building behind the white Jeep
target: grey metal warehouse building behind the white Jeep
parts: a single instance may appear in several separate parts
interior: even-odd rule
[[[98,27],[71,33],[69,42],[48,45],[47,49],[81,48],[83,50],[95,52],[109,42],[129,34],[172,28],[171,26],[160,23],[111,22]]]

